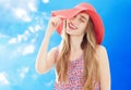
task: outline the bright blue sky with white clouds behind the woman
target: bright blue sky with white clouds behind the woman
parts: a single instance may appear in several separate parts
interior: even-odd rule
[[[0,90],[52,90],[53,68],[38,75],[36,55],[50,12],[70,9],[79,2],[92,3],[104,21],[103,44],[109,55],[112,90],[130,90],[130,0],[1,0]],[[49,50],[60,41],[61,37],[55,33]]]

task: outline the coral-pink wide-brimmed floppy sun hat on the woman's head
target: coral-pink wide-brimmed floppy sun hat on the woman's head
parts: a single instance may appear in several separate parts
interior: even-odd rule
[[[52,16],[59,15],[61,16],[61,18],[69,20],[83,11],[86,12],[92,18],[94,24],[96,42],[100,44],[104,39],[105,28],[104,28],[104,24],[100,16],[91,4],[83,2],[78,4],[73,9],[52,11],[51,15]],[[62,27],[63,27],[63,24],[61,23],[57,28],[57,31],[59,35],[61,35]]]

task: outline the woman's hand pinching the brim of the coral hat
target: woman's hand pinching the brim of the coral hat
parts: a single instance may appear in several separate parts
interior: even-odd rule
[[[52,34],[55,29],[57,29],[57,27],[61,24],[61,18],[60,16],[55,16],[55,17],[50,17],[49,23],[48,23],[48,27],[47,27],[47,31],[49,34]]]

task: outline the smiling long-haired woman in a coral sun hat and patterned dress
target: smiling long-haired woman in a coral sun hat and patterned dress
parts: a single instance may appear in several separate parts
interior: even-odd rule
[[[55,29],[62,41],[47,52]],[[103,22],[91,4],[84,2],[73,9],[53,11],[37,55],[36,70],[45,74],[55,65],[55,90],[110,90],[103,38]]]

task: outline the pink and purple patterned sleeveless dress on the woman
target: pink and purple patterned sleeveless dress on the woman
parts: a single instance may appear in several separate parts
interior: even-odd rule
[[[81,55],[78,60],[71,61],[70,67],[68,70],[68,83],[57,83],[55,82],[55,90],[82,90],[85,79],[83,76],[84,69],[84,60],[83,55]],[[100,90],[99,83],[94,85],[94,90]]]

